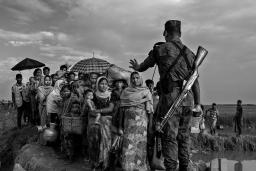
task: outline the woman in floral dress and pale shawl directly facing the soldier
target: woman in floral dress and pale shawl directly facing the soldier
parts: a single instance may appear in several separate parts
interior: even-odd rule
[[[138,72],[131,74],[130,82],[120,96],[120,114],[124,116],[122,168],[144,171],[149,170],[147,133],[152,133],[152,95],[148,88],[142,87]]]

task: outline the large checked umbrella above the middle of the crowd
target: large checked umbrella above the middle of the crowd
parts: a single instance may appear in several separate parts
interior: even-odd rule
[[[109,68],[110,63],[99,59],[99,58],[89,58],[84,59],[77,62],[75,65],[72,66],[70,69],[73,72],[82,72],[82,73],[105,73],[106,70]]]

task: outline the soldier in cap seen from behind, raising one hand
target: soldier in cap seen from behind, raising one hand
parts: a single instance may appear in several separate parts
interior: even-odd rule
[[[154,45],[148,57],[139,64],[136,59],[130,60],[131,68],[143,72],[154,65],[158,65],[160,75],[160,99],[155,120],[158,124],[179,96],[182,85],[192,70],[195,55],[180,40],[181,22],[169,20],[165,23],[163,32],[166,42]],[[169,119],[161,134],[164,165],[167,171],[177,169],[186,171],[189,164],[189,126],[192,108],[200,111],[200,88],[198,80],[192,86],[175,115]]]

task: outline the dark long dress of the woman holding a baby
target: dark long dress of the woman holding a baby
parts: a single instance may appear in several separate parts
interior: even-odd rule
[[[110,97],[100,98],[95,96],[96,109],[103,109],[109,106]],[[94,123],[95,116],[90,114],[88,119],[88,153],[92,168],[101,167],[106,169],[109,165],[109,151],[111,147],[111,113],[104,114],[99,120],[99,125]]]

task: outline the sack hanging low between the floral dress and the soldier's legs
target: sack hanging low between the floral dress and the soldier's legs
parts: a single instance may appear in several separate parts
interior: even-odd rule
[[[150,168],[152,170],[165,170],[164,158],[160,146],[160,138],[155,138],[153,158],[152,161],[150,162]]]

